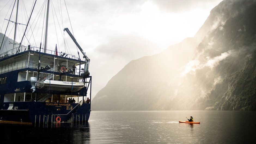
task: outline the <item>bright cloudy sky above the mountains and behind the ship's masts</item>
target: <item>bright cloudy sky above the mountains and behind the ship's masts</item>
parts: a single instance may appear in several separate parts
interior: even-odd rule
[[[221,1],[53,1],[50,2],[49,27],[51,28],[48,32],[47,48],[54,50],[57,44],[58,51],[78,56],[77,48],[72,41],[64,48],[64,42],[61,42],[62,38],[56,39],[56,33],[58,34],[56,29],[60,32],[59,35],[65,37],[67,41],[70,41],[70,38],[66,33],[63,33],[63,28],[68,27],[73,32],[75,39],[91,60],[89,71],[93,76],[93,98],[131,60],[157,54],[170,45],[181,42],[186,37],[193,37],[209,16],[211,9]],[[4,21],[4,18],[10,18],[10,14],[7,16],[7,11],[9,9],[11,11],[12,2],[14,1],[0,1],[0,29],[2,33],[5,32],[5,26],[2,23],[7,22]],[[34,1],[20,0],[20,3],[21,9],[25,7],[23,4],[28,6],[26,6],[26,12],[29,13]],[[44,1],[37,1],[38,6],[35,7],[37,15],[40,15],[38,10],[41,9],[43,3]],[[14,9],[16,12],[16,8]],[[23,8],[24,10],[25,8]],[[61,12],[57,12],[59,10]],[[61,18],[53,18],[54,15]],[[21,16],[19,18],[23,19],[20,20],[22,21],[20,23],[26,24],[24,19],[28,18]],[[15,21],[15,16],[11,19]],[[42,21],[33,21],[33,23],[42,23]],[[24,29],[19,27],[19,30]],[[41,39],[41,31],[35,29],[33,33],[37,33]],[[11,34],[9,36],[13,38]],[[16,38],[17,42],[21,39],[19,37],[21,36]],[[33,43],[33,46],[39,47],[39,45],[40,42]],[[82,57],[81,52],[80,57]]]

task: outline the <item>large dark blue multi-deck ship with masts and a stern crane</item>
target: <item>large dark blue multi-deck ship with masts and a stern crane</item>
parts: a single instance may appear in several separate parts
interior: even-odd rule
[[[84,60],[81,60],[79,54],[76,57],[57,52],[57,49],[48,50],[46,45],[45,48],[41,48],[41,45],[38,48],[21,45],[22,42],[0,54],[0,123],[89,120],[92,89],[90,59],[69,29],[65,28],[64,32],[75,42]],[[2,48],[6,44],[4,40]]]

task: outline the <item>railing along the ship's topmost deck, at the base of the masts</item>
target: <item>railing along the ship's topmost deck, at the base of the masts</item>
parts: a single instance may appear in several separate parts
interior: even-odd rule
[[[55,49],[55,46],[54,46],[53,49]],[[5,52],[1,53],[0,54],[0,59],[9,57],[11,55],[19,54],[20,52],[24,52],[24,51],[28,51],[28,50],[40,51],[40,48],[30,47],[30,46],[20,46],[20,47],[17,47],[17,48],[14,48],[14,49],[11,49],[9,51],[5,51]],[[40,52],[44,52],[44,49],[41,48]],[[56,55],[56,51],[51,51],[51,50],[47,49],[46,54]],[[64,53],[57,52],[57,55],[61,56],[61,57],[72,58],[72,59],[75,59],[75,60],[79,59],[78,57],[75,57],[75,55],[65,54],[65,52]]]

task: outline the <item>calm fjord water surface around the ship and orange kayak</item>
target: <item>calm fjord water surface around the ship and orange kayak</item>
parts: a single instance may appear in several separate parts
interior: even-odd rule
[[[179,123],[193,116],[200,124]],[[256,111],[92,111],[88,123],[0,124],[1,143],[255,143]]]

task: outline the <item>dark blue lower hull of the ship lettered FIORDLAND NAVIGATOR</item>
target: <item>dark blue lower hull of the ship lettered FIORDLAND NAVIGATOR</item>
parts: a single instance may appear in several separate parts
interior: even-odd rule
[[[9,104],[18,107],[17,110],[7,110]],[[73,107],[67,109],[67,107]],[[90,104],[75,103],[51,103],[51,102],[4,102],[0,110],[0,122],[2,123],[56,123],[60,122],[88,121],[90,117]],[[59,121],[59,119],[58,119]]]

